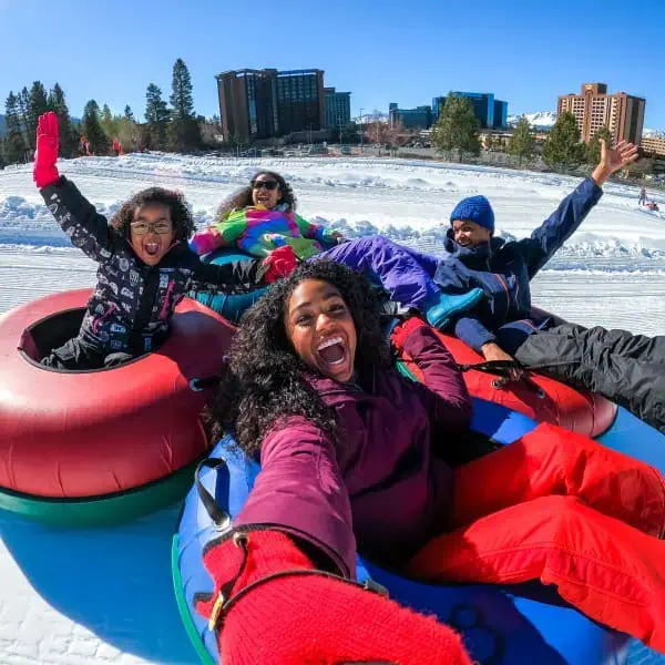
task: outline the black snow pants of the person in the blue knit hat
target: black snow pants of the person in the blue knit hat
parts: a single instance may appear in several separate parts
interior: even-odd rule
[[[564,324],[534,332],[514,357],[525,367],[601,393],[665,433],[665,336]]]

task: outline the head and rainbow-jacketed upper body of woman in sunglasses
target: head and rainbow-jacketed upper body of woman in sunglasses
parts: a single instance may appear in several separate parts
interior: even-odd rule
[[[257,258],[289,246],[297,258],[306,259],[341,241],[338,232],[296,214],[296,197],[282,175],[259,171],[219,206],[217,222],[194,234],[190,244],[200,255],[237,247]]]

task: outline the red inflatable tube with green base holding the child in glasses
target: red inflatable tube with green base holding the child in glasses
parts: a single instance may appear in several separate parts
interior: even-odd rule
[[[127,519],[181,498],[208,449],[198,415],[209,393],[191,381],[221,370],[231,326],[185,298],[155,352],[95,371],[40,365],[76,335],[90,294],[0,317],[0,508],[74,524]]]

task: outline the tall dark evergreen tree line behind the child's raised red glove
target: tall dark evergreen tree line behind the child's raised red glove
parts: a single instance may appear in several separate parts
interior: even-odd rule
[[[136,122],[126,105],[122,115],[114,115],[108,104],[101,109],[90,100],[81,122],[74,123],[58,83],[47,94],[44,85],[34,81],[30,90],[18,94],[11,91],[4,102],[6,133],[0,141],[0,166],[32,160],[35,147],[38,117],[55,111],[60,124],[60,156],[74,157],[86,154],[109,155],[114,139],[124,152],[161,150],[185,152],[204,145],[204,135],[212,142],[218,132],[218,119],[207,122],[194,112],[193,85],[190,71],[178,58],[173,65],[171,106],[162,99],[162,91],[150,83],[145,93],[145,123]],[[88,142],[88,147],[84,142]]]

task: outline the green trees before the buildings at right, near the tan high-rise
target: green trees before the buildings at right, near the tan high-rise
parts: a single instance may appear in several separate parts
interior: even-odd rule
[[[440,153],[451,154],[457,151],[461,162],[466,153],[480,154],[479,130],[480,122],[473,113],[471,102],[449,93],[432,127],[432,146]],[[543,158],[557,170],[576,168],[582,164],[595,165],[601,158],[601,139],[612,143],[612,133],[607,127],[602,127],[587,144],[582,143],[575,116],[562,113],[545,140]],[[520,165],[536,154],[535,135],[524,116],[518,121],[508,143],[508,152],[519,157]]]

